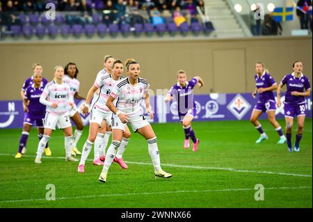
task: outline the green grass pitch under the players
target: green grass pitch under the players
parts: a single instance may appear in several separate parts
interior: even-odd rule
[[[193,122],[198,152],[184,150],[178,122],[154,124],[161,166],[173,176],[154,178],[147,142],[133,133],[123,156],[129,169],[112,164],[105,184],[97,180],[102,166],[87,161],[80,174],[77,162],[65,162],[62,131],[52,134],[52,156],[38,165],[35,129],[22,159],[14,158],[21,129],[1,129],[0,207],[312,207],[312,119],[298,153],[276,144],[275,129],[261,122],[269,137],[262,144],[255,144],[259,135],[249,121]],[[79,150],[87,136],[86,127]],[[56,200],[46,200],[47,184],[54,184]],[[256,184],[264,186],[264,200],[255,200]]]

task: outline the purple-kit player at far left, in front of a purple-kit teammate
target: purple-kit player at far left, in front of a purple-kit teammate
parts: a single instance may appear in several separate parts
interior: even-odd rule
[[[26,108],[24,113],[24,128],[21,138],[19,138],[19,149],[15,158],[21,158],[22,154],[26,152],[26,143],[29,138],[29,132],[36,122],[39,135],[44,133],[43,120],[45,119],[46,106],[39,102],[40,95],[45,88],[42,84],[42,75],[40,72],[33,74],[32,82],[29,87],[24,91],[23,105]],[[24,150],[24,151],[23,151]]]

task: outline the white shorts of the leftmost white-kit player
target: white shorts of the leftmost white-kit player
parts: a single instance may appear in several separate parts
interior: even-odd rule
[[[70,116],[68,116],[68,113],[62,115],[54,115],[47,112],[44,125],[45,128],[49,129],[56,129],[56,126],[58,126],[59,129],[72,127]]]

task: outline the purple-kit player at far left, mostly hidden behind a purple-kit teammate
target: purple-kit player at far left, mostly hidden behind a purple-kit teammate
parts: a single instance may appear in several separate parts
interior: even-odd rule
[[[26,89],[27,89],[29,86],[31,86],[31,85],[34,84],[33,79],[34,79],[34,75],[35,75],[35,74],[40,74],[40,75],[42,76],[42,65],[40,65],[39,63],[33,64],[33,75],[32,75],[30,78],[28,78],[28,79],[26,79],[26,80],[24,81],[23,87],[22,87],[22,89],[21,89],[21,96],[22,96],[22,100],[23,100],[23,101],[24,101],[24,99],[25,99],[25,92],[26,92]],[[48,82],[47,79],[42,78],[42,86],[43,86],[43,87],[46,86],[47,82]],[[26,120],[27,118],[29,118],[29,117],[28,117],[28,114],[27,114],[27,113],[29,112],[29,108],[28,108],[29,102],[30,102],[30,100],[27,100],[26,103],[23,102],[24,124],[25,124],[25,123],[28,124],[27,122],[25,122],[25,120]],[[45,113],[45,112],[44,112],[44,113]],[[43,114],[43,113],[42,113],[42,114]],[[29,125],[32,125],[32,124],[33,124],[33,122],[32,122],[31,124],[29,124]],[[40,126],[40,127],[43,127],[43,125]],[[38,131],[38,138],[39,138],[39,140],[42,138],[42,131],[41,131],[40,127],[38,127],[38,125],[37,125],[37,131]],[[22,143],[24,144],[24,142],[25,142],[25,144],[24,144],[24,147],[22,148],[22,154],[25,154],[25,153],[26,153],[26,150],[27,150],[27,149],[26,149],[26,142],[27,142],[28,136],[29,136],[29,132],[26,132],[26,131],[23,130],[21,139],[22,139]],[[46,148],[45,148],[45,154],[46,154],[47,156],[51,156],[51,150],[50,150],[50,148],[49,148],[49,144],[48,144],[48,143],[47,143]],[[19,154],[17,154],[17,158],[19,158]]]

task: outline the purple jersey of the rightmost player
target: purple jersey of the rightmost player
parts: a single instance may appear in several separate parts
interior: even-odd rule
[[[300,78],[294,76],[294,72],[287,74],[282,78],[282,85],[287,84],[287,92],[284,96],[284,102],[287,104],[302,104],[305,103],[304,96],[291,95],[291,92],[297,91],[303,93],[305,90],[311,88],[310,80],[307,79],[302,73]]]

